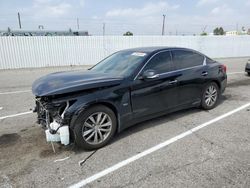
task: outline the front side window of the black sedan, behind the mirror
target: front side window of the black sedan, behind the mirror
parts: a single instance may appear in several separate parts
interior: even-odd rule
[[[145,70],[153,69],[158,74],[171,71],[171,55],[170,51],[160,52],[156,54],[146,65]]]

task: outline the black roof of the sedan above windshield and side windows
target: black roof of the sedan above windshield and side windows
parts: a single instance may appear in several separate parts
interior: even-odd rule
[[[153,53],[162,50],[192,50],[182,47],[166,47],[166,46],[153,46],[153,47],[139,47],[139,48],[130,48],[122,51],[135,51],[135,52],[144,52],[144,53]],[[192,50],[194,51],[194,50]]]

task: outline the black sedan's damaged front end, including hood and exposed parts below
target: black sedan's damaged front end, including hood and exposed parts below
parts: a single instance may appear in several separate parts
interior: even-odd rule
[[[86,106],[96,102],[96,93],[121,82],[120,77],[91,71],[52,73],[34,81],[34,112],[47,141],[70,144],[75,139],[75,120]]]

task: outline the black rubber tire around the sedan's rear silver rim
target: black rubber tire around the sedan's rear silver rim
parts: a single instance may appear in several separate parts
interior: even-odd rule
[[[217,94],[216,94],[216,99],[212,102],[212,104],[209,105],[206,102],[206,99],[207,99],[206,92],[209,90],[210,87],[214,88],[216,90]],[[219,90],[218,85],[215,82],[211,82],[211,83],[207,84],[206,87],[203,89],[203,92],[202,92],[202,100],[201,100],[202,109],[211,110],[214,107],[216,107],[217,102],[219,100],[219,97],[220,97],[220,90]]]

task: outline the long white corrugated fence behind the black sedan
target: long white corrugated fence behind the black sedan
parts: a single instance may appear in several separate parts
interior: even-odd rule
[[[187,47],[212,58],[250,56],[250,36],[0,37],[0,69],[91,65],[143,46]]]

